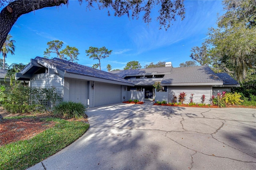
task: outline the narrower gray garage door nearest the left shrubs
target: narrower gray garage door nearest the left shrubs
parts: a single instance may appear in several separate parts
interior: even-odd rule
[[[80,102],[87,107],[87,81],[81,81],[76,79],[69,79],[69,81],[69,100],[74,102]]]

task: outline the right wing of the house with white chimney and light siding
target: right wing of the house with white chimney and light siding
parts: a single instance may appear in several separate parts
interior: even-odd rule
[[[168,62],[170,63],[170,62]],[[194,67],[166,67],[146,68],[134,70],[115,70],[111,73],[117,74],[135,84],[128,87],[131,91],[142,91],[145,89],[145,99],[156,97],[154,82],[160,81],[164,89],[168,91],[167,101],[172,102],[174,96],[182,92],[186,93],[184,103],[190,103],[193,95],[193,102],[201,103],[202,96],[205,96],[204,103],[210,103],[212,95],[218,92],[231,91],[231,87],[238,87],[239,83],[227,73],[214,73],[208,66]]]

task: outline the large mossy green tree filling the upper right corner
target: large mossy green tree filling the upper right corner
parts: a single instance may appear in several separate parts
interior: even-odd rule
[[[226,14],[218,18],[218,28],[209,29],[209,38],[193,47],[190,57],[242,82],[249,69],[256,69],[256,1],[223,0],[223,6]]]

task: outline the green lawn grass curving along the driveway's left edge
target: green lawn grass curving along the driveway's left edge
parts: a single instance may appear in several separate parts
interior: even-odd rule
[[[65,148],[89,128],[89,124],[80,121],[58,118],[42,118],[42,120],[55,121],[56,125],[30,140],[20,140],[0,147],[0,169],[29,168]]]

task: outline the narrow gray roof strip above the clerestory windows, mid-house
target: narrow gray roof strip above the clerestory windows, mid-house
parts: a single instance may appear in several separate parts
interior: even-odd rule
[[[119,75],[120,77],[126,77],[128,75],[142,75],[146,73],[168,73],[172,70],[172,67],[157,67],[147,69],[129,69],[129,70],[114,70],[110,73]]]

